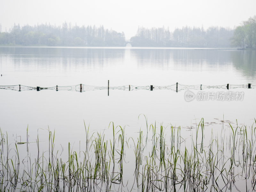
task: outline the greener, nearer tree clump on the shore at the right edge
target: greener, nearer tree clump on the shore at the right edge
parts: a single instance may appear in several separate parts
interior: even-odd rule
[[[240,49],[256,49],[256,15],[236,27],[231,44]]]

